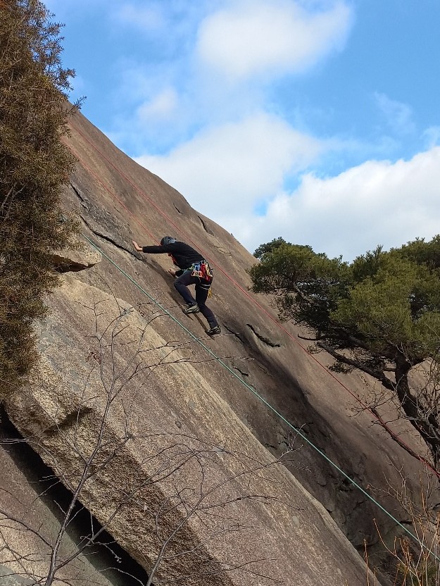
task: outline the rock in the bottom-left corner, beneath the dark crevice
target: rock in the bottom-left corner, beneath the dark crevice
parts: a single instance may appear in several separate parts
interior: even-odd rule
[[[50,550],[44,540],[54,542],[64,506],[60,490],[51,495],[54,480],[43,470],[39,457],[11,436],[4,416],[0,424],[0,586],[34,585],[47,575]],[[6,514],[5,514],[6,513]],[[14,522],[17,519],[19,522]],[[32,529],[28,530],[27,528]],[[71,523],[61,544],[61,556],[75,547],[84,528]],[[41,537],[39,537],[39,535]],[[4,544],[8,544],[8,548]],[[97,558],[100,558],[99,560]],[[58,572],[56,586],[80,584],[96,586],[126,585],[113,566],[108,550],[96,548],[94,556],[80,555]],[[120,579],[122,578],[122,580]],[[39,582],[40,583],[40,582]],[[43,582],[44,583],[44,582]]]

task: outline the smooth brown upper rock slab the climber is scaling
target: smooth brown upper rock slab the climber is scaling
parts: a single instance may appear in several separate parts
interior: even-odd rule
[[[276,316],[270,300],[249,291],[251,280],[246,269],[256,259],[232,235],[197,214],[175,189],[115,149],[82,116],[73,120],[70,144],[80,158],[72,184],[87,200],[87,213],[73,189],[66,192],[65,204],[82,213],[87,221],[84,233],[95,237],[95,242],[113,261],[153,297],[163,301],[173,315],[182,318],[179,310],[182,300],[172,288],[167,273],[168,258],[139,255],[133,251],[131,240],[153,244],[153,238],[158,242],[163,235],[171,234],[193,243],[209,258],[215,270],[210,304],[222,323],[224,335],[215,342],[207,342],[210,347],[215,344],[219,356],[230,356],[228,364],[241,369],[246,382],[364,487],[384,488],[387,482],[400,486],[400,469],[406,471],[408,478],[418,478],[417,461],[398,447],[371,413],[362,412],[353,397],[363,399],[367,394],[374,394],[377,382],[356,373],[340,375],[341,382],[350,391],[347,392],[325,370],[332,360],[325,354],[307,353],[308,342],[298,339],[298,334],[305,332],[291,324],[283,324],[280,329],[272,321],[271,317]],[[203,228],[200,218],[210,232]],[[91,271],[78,273],[78,278],[101,286]],[[106,279],[116,294],[135,307],[148,302],[139,289],[128,285],[125,278],[121,280],[118,270],[106,268]],[[203,320],[197,317],[184,320],[191,332],[203,336],[206,325]],[[177,335],[172,323],[159,322],[155,327],[165,339]],[[219,381],[222,397],[260,442],[279,454],[286,445],[289,428],[214,362],[210,363],[210,376]],[[379,411],[385,420],[392,422],[391,428],[401,439],[427,456],[425,445],[410,424],[396,420],[392,409],[379,407]],[[377,507],[360,497],[356,490],[347,490],[339,474],[313,450],[304,447],[298,453],[294,473],[332,511],[338,525],[360,550],[364,539],[367,543],[379,541],[373,518],[380,519],[384,533],[394,531],[394,523],[381,518],[380,512],[378,516]],[[395,509],[394,501],[386,494],[381,502]],[[401,519],[406,520],[404,515]]]

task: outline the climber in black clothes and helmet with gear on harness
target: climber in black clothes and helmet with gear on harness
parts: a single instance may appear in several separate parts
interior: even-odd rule
[[[206,306],[206,299],[213,282],[213,272],[208,261],[194,248],[191,248],[189,244],[178,242],[171,236],[164,236],[159,246],[139,247],[137,242],[134,240],[132,242],[134,249],[138,252],[145,252],[146,254],[166,253],[172,258],[172,262],[179,270],[170,269],[169,272],[173,277],[177,277],[174,286],[187,304],[183,313],[189,315],[200,311],[209,325],[209,330],[206,332],[208,336],[220,334],[220,325],[213,312]],[[196,285],[196,299],[191,295],[188,289],[189,285]]]

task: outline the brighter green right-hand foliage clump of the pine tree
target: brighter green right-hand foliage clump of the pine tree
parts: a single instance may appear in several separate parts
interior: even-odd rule
[[[439,347],[439,277],[397,254],[382,256],[376,273],[354,281],[330,318],[367,350],[392,361],[398,347],[414,365]]]

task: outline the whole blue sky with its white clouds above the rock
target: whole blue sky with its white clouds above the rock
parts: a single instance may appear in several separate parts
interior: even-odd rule
[[[249,250],[440,232],[439,0],[46,6],[84,116]]]

